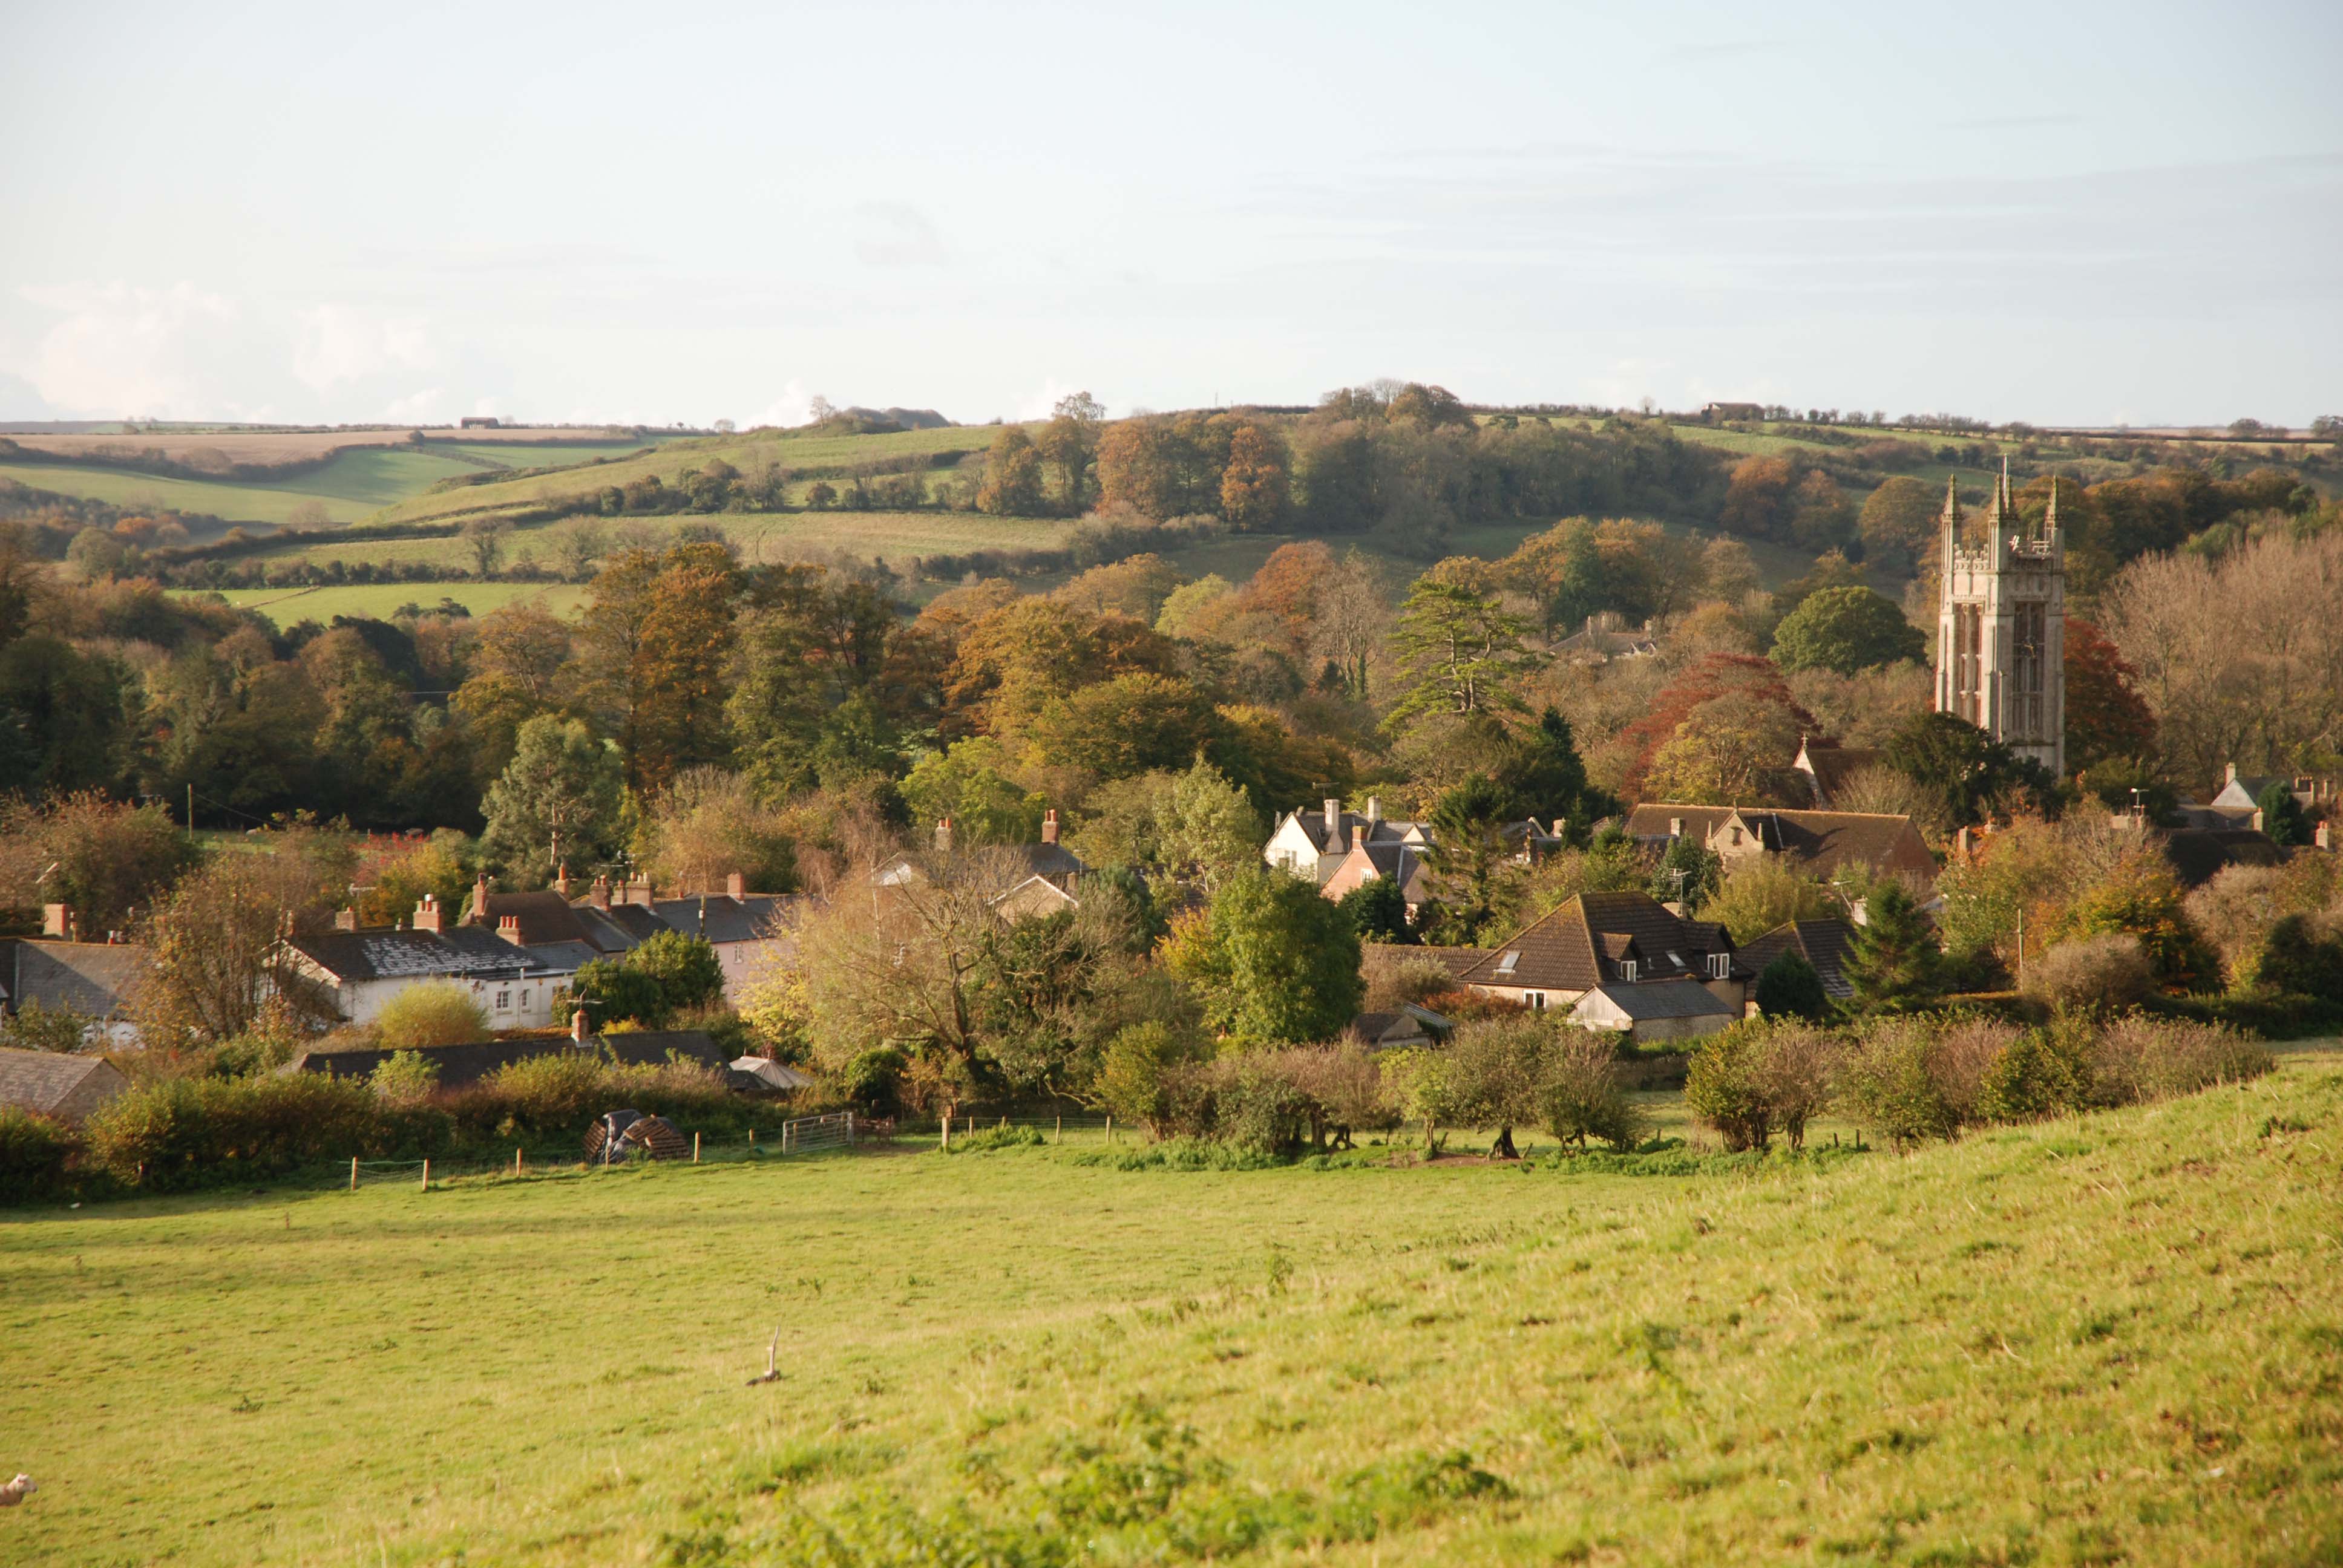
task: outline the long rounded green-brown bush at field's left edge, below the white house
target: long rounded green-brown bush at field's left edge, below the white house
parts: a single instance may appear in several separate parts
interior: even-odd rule
[[[448,1123],[394,1111],[354,1078],[164,1078],[98,1106],[84,1137],[89,1160],[124,1186],[178,1191],[351,1155],[429,1153],[445,1146]]]

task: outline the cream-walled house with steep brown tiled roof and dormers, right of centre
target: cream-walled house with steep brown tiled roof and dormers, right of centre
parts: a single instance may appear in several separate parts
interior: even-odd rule
[[[1579,893],[1460,975],[1483,996],[1572,1008],[1572,1022],[1638,1041],[1715,1034],[1746,1013],[1753,977],[1724,926],[1647,893]]]

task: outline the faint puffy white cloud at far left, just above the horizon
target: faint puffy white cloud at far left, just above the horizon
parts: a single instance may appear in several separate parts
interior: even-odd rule
[[[7,366],[52,408],[84,417],[248,415],[216,398],[216,368],[237,352],[237,309],[194,284],[134,288],[56,284],[19,291],[56,312],[33,352]]]

